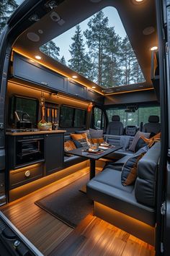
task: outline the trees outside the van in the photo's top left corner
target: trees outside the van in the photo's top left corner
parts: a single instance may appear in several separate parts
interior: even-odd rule
[[[0,34],[6,25],[7,20],[17,7],[18,5],[15,0],[0,1]]]

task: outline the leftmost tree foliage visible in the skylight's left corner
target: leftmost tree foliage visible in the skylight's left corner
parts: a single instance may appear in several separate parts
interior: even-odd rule
[[[40,51],[58,61],[60,48],[56,46],[53,40],[50,40],[48,43],[45,43],[43,46],[41,46]]]

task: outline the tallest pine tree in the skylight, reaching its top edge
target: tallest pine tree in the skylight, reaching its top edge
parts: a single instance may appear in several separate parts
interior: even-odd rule
[[[99,11],[89,20],[88,26],[89,29],[84,31],[84,35],[89,47],[89,56],[91,56],[92,80],[98,85],[103,85],[102,74],[104,73],[104,59],[106,58],[104,49],[107,47],[108,18],[104,17],[102,11]]]

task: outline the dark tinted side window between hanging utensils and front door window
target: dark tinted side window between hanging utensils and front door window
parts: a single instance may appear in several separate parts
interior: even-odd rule
[[[60,127],[86,127],[86,111],[79,108],[61,106]]]

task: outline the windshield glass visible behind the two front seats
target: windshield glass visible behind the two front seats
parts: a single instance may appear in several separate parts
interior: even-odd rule
[[[152,115],[159,116],[160,119],[160,107],[151,106],[151,107],[139,107],[135,112],[128,113],[125,112],[125,109],[112,108],[107,109],[107,117],[109,121],[112,121],[112,116],[120,116],[120,121],[123,125],[137,125],[140,126],[140,122],[143,121],[143,124],[148,123],[148,117]]]

